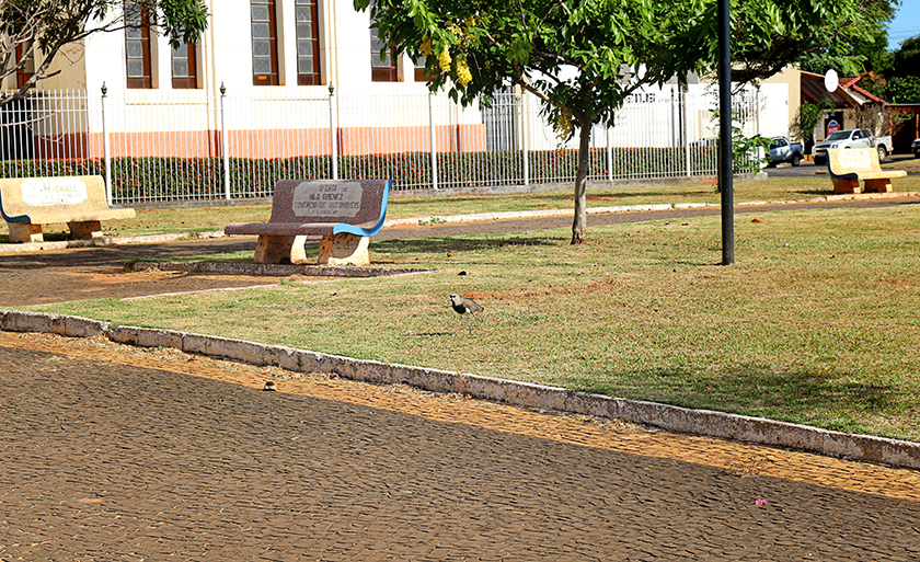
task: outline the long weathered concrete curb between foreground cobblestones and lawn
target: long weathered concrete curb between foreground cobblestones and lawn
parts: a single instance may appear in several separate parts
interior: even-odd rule
[[[45,332],[70,337],[105,335],[141,347],[174,347],[185,353],[222,357],[256,366],[278,366],[297,372],[334,372],[379,383],[406,383],[435,392],[461,392],[519,406],[556,410],[609,418],[624,418],[663,429],[804,449],[895,467],[920,468],[920,443],[847,434],[777,422],[762,417],[588,394],[564,388],[482,377],[410,365],[355,359],[340,355],[266,345],[245,340],[156,330],[112,326],[79,317],[0,309],[0,330]]]

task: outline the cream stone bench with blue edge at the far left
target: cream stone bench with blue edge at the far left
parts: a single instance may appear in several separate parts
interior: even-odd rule
[[[0,180],[0,214],[10,242],[44,242],[42,225],[67,222],[70,238],[102,238],[103,220],[135,217],[134,209],[112,209],[99,175]]]

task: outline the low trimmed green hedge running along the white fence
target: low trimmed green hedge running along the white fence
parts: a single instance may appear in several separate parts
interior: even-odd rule
[[[368,154],[338,157],[343,179],[391,177],[395,188],[422,188],[432,184],[430,153]],[[712,168],[714,147],[691,149],[691,173]],[[617,148],[612,150],[614,176],[670,176],[687,173],[683,148]],[[439,153],[440,185],[518,184],[524,179],[520,151]],[[327,156],[250,159],[231,158],[231,197],[272,194],[283,177],[325,179],[332,175]],[[533,183],[571,181],[577,151],[547,150],[528,153]],[[4,177],[103,175],[102,159],[16,160],[0,162]],[[590,152],[589,175],[607,177],[607,149]],[[119,203],[169,199],[208,199],[223,195],[223,162],[220,158],[113,158],[113,197]]]

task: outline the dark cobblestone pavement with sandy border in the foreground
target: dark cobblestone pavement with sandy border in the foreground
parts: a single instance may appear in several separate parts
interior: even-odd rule
[[[4,562],[920,560],[918,471],[103,339],[0,385]]]

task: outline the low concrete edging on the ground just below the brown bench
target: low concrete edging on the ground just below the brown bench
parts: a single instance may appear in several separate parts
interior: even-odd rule
[[[272,277],[288,277],[291,275],[306,275],[309,277],[382,277],[411,273],[429,273],[434,271],[421,267],[344,267],[332,265],[234,262],[135,262],[125,266],[125,268],[130,272],[145,272],[154,268],[163,272],[264,275]]]

